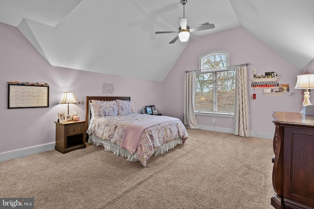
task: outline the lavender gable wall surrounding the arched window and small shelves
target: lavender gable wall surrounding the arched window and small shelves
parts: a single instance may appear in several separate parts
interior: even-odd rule
[[[248,77],[253,78],[253,70],[258,75],[268,71],[279,74],[279,83],[288,83],[290,96],[266,96],[262,90],[255,90],[257,99],[253,100],[254,90],[249,88],[251,132],[273,135],[275,127],[272,121],[273,111],[300,112],[302,109],[301,91],[295,90],[296,75],[300,70],[286,59],[263,44],[242,27],[203,36],[191,40],[182,55],[163,82],[164,114],[183,120],[184,71],[199,69],[199,57],[209,51],[224,50],[230,52],[230,65],[251,63]],[[313,68],[313,65],[312,65]],[[248,80],[250,87],[251,80]],[[212,119],[215,123],[212,123]],[[212,130],[233,129],[233,118],[197,116],[199,124]]]

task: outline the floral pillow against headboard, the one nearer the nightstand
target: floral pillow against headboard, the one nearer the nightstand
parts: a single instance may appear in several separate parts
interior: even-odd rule
[[[92,100],[91,105],[93,106],[94,116],[117,116],[118,105],[117,101],[99,101]]]

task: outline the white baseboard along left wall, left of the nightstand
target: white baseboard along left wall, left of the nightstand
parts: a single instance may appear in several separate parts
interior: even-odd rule
[[[24,149],[13,150],[9,152],[0,153],[0,162],[8,161],[17,158],[23,158],[28,155],[33,155],[41,152],[54,150],[55,142],[42,144],[33,147],[27,147]]]

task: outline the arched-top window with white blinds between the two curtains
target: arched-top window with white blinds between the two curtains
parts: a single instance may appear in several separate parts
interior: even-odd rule
[[[235,68],[229,66],[229,53],[214,51],[200,58],[196,73],[194,111],[233,115],[235,109]]]

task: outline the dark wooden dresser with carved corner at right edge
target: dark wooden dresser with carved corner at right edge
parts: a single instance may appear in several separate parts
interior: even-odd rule
[[[314,209],[314,116],[273,114],[276,131],[271,205],[276,209]]]

